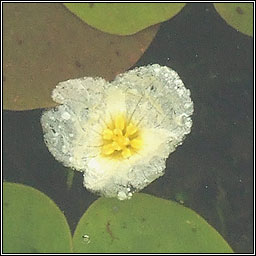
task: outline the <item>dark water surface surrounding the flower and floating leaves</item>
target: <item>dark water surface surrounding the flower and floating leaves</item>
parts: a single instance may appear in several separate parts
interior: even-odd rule
[[[188,4],[161,25],[135,66],[176,70],[194,101],[193,127],[167,160],[166,174],[143,192],[183,201],[213,225],[235,252],[253,252],[253,39],[218,16],[211,4]],[[48,152],[42,110],[3,111],[3,178],[52,198],[72,231],[97,196]]]

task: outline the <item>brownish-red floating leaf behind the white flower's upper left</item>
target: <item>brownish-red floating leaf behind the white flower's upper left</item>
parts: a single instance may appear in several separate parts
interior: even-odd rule
[[[109,35],[61,3],[4,3],[3,14],[3,105],[9,110],[55,106],[51,92],[60,81],[112,80],[137,62],[159,27]]]

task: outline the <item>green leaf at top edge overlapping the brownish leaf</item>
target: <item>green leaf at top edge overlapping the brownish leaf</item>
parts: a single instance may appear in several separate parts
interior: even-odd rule
[[[103,32],[131,35],[175,16],[185,3],[64,3],[80,19]]]

